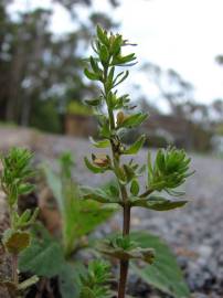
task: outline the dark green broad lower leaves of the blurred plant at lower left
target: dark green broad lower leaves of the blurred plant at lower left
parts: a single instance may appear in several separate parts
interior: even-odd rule
[[[36,274],[40,277],[57,277],[62,297],[78,297],[78,264],[72,266],[64,257],[62,244],[50,235],[42,224],[35,224],[29,248],[20,256],[21,272]]]

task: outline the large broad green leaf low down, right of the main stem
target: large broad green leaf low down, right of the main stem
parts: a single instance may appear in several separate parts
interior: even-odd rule
[[[149,285],[174,298],[189,298],[190,291],[177,264],[176,257],[167,244],[158,236],[146,232],[131,233],[131,238],[140,247],[152,247],[156,257],[152,265],[141,268],[139,264],[131,264],[132,270]]]

